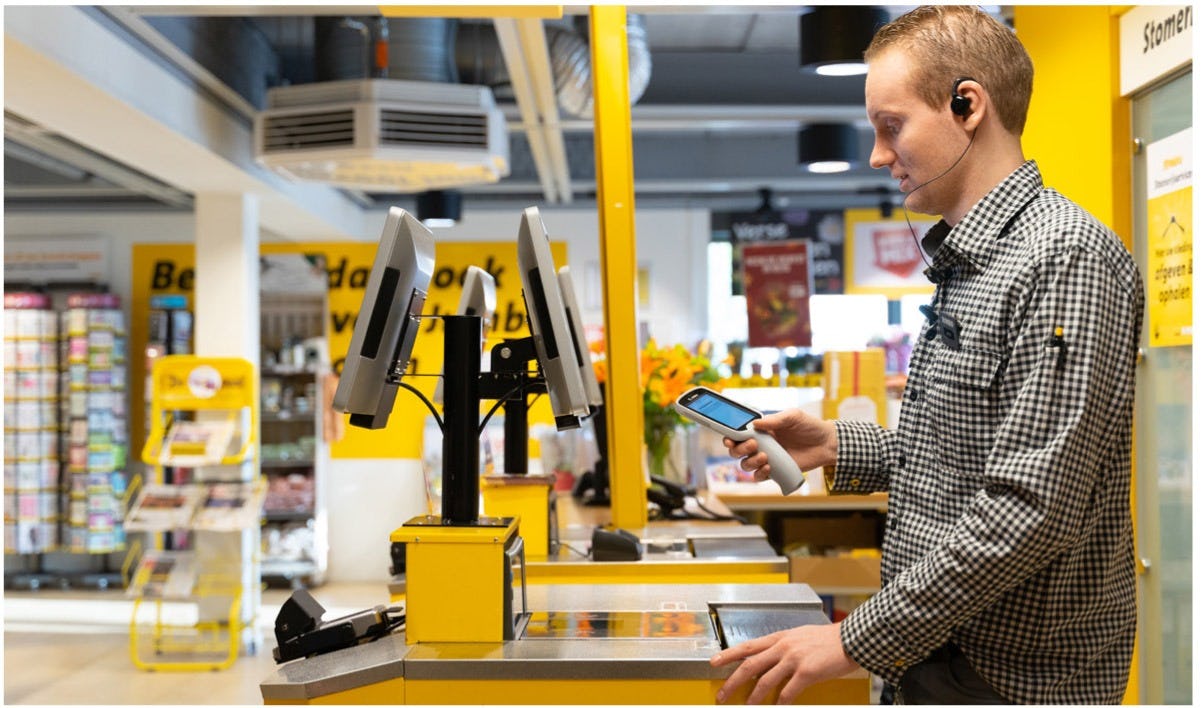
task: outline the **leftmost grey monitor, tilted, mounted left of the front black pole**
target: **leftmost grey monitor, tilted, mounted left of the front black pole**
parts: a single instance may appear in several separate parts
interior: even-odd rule
[[[350,413],[352,425],[374,430],[389,421],[433,272],[430,230],[390,207],[335,390],[334,408]]]

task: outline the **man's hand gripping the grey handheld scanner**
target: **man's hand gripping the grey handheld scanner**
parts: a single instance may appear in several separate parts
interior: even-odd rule
[[[775,437],[804,472],[836,465],[836,424],[831,420],[791,408],[759,418],[752,427]],[[725,437],[724,444],[733,458],[744,458],[740,468],[752,472],[757,482],[769,478],[769,458],[757,449],[755,439],[737,442]]]

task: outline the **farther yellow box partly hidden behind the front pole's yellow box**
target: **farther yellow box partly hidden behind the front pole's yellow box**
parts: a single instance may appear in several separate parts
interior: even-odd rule
[[[480,479],[485,514],[514,517],[527,560],[543,560],[555,551],[556,494],[550,474],[486,474]]]

